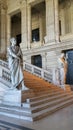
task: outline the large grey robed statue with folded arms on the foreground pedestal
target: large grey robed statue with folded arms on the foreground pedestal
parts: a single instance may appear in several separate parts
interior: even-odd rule
[[[7,49],[8,52],[8,64],[11,73],[12,89],[17,89],[21,85],[22,90],[27,90],[28,88],[24,85],[23,76],[23,58],[20,46],[16,45],[16,39],[13,37],[10,39],[10,46]]]

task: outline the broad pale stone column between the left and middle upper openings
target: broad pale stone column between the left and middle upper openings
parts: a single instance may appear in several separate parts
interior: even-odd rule
[[[27,3],[26,1],[22,2],[21,5],[21,34],[22,42],[21,48],[27,49]]]

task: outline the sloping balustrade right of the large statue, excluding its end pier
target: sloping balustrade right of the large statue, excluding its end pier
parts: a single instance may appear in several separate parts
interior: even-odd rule
[[[52,83],[53,82],[53,71],[51,69],[44,70],[42,68],[39,68],[37,66],[31,65],[29,63],[24,63],[24,70],[29,71],[30,73],[37,75],[48,82]]]

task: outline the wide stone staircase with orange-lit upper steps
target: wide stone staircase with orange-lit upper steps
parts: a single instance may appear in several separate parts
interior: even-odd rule
[[[67,85],[63,90],[26,71],[24,81],[29,90],[22,91],[21,106],[0,104],[0,115],[37,121],[73,103],[73,92]]]

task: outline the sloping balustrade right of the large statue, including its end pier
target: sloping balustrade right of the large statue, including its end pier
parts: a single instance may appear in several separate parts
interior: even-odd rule
[[[49,70],[44,70],[43,68],[39,68],[37,66],[34,66],[34,65],[31,65],[29,63],[24,62],[24,70],[29,71],[30,73],[48,81],[49,83],[53,83],[54,85],[65,89],[60,84],[60,70],[59,70],[59,68],[52,68]]]

